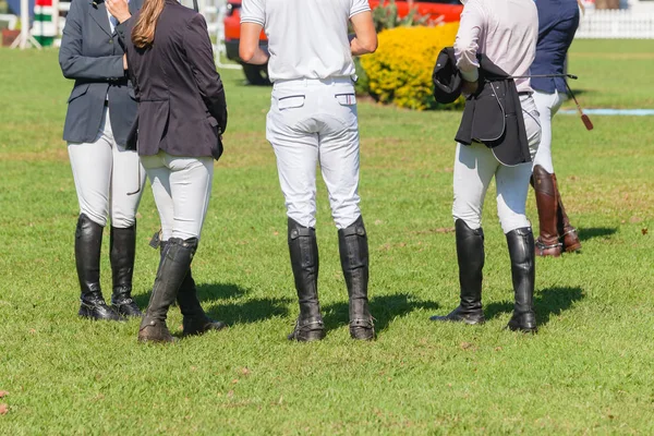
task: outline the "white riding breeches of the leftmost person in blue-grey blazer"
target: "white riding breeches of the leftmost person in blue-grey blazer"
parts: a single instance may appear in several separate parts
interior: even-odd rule
[[[96,140],[93,143],[69,143],[68,150],[80,214],[102,227],[107,226],[107,217],[117,228],[134,226],[145,171],[140,171],[136,152],[125,150],[116,143],[109,108],[105,108]]]

